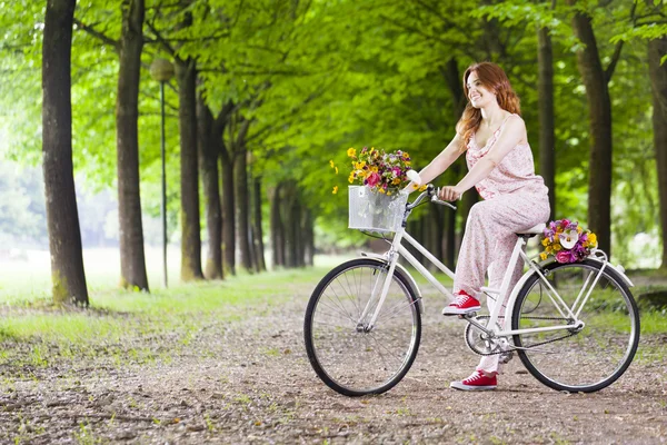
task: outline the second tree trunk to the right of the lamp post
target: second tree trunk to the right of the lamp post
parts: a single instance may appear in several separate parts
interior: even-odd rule
[[[206,199],[206,228],[208,234],[208,254],[205,276],[208,279],[222,279],[222,215],[220,208],[220,182],[218,175],[218,155],[221,134],[213,131],[213,113],[205,103],[203,97],[197,97],[197,144],[199,146],[199,171]]]

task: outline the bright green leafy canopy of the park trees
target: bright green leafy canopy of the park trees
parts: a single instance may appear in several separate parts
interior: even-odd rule
[[[266,188],[296,179],[315,211],[318,240],[358,243],[346,229],[349,147],[410,152],[424,167],[452,138],[458,119],[448,62],[459,77],[471,62],[491,60],[508,72],[538,155],[537,38],[554,42],[557,217],[585,224],[588,105],[576,67],[581,49],[571,17],[593,18],[606,66],[624,42],[611,82],[614,118],[615,255],[637,234],[655,234],[659,200],[651,146],[646,40],[667,32],[660,4],[598,2],[458,2],[455,0],[148,0],[140,93],[140,168],[145,211],[159,214],[159,86],[148,67],[156,57],[192,58],[200,91],[217,115],[235,105],[228,147],[238,121],[251,120],[247,149],[252,175]],[[115,101],[121,2],[78,2],[72,48],[73,156],[78,174],[99,189],[116,184]],[[0,18],[0,149],[24,164],[40,159],[40,70],[43,4],[8,3]],[[190,23],[189,26],[187,26]],[[460,80],[459,80],[460,81]],[[170,229],[178,225],[178,96],[166,85]],[[339,168],[336,176],[329,166]],[[460,175],[459,175],[460,177]],[[447,172],[438,185],[459,179]],[[332,188],[338,186],[338,194]],[[326,236],[328,234],[328,236]]]

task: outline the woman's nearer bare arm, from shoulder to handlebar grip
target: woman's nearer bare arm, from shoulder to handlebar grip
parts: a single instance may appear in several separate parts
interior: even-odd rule
[[[502,158],[525,138],[525,135],[526,123],[524,119],[514,119],[510,117],[500,131],[500,135],[498,135],[498,140],[496,140],[494,147],[475,164],[475,167],[456,186],[440,189],[440,199],[454,201],[466,190],[489,176]]]

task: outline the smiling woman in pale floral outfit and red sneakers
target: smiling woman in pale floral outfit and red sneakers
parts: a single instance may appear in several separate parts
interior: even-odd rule
[[[454,140],[419,172],[424,184],[430,182],[465,152],[468,174],[456,186],[441,188],[439,197],[452,201],[475,186],[484,198],[468,215],[454,280],[456,299],[442,309],[444,315],[479,310],[487,271],[489,287],[500,288],[516,243],[512,234],[544,222],[550,211],[548,188],[535,175],[526,126],[519,116],[519,98],[505,71],[490,62],[472,65],[464,75],[464,90],[469,102],[456,126]],[[521,273],[519,264],[510,289]],[[487,299],[489,310],[492,305]],[[495,389],[498,365],[499,355],[485,356],[472,375],[452,382],[450,387]]]

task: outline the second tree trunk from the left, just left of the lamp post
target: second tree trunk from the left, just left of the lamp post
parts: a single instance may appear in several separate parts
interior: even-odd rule
[[[116,99],[120,284],[148,290],[139,179],[139,79],[143,48],[143,0],[123,1]]]

